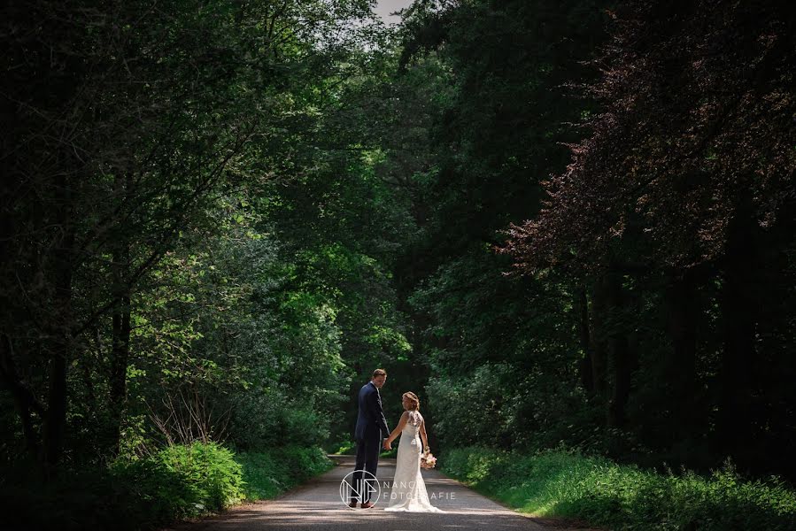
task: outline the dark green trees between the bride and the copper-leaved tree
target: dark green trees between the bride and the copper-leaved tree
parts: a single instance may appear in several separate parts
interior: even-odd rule
[[[417,3],[401,28],[409,60],[390,84],[398,134],[383,171],[412,199],[396,278],[442,445],[583,443],[604,417],[577,389],[572,279],[508,278],[512,261],[492,249],[567,164],[562,143],[578,133],[565,124],[592,104],[560,83],[590,75],[578,61],[603,33],[601,6]]]

